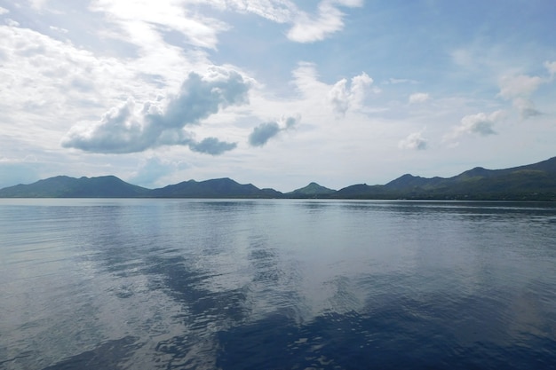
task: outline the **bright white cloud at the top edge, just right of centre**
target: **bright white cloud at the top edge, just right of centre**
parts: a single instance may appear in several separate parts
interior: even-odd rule
[[[298,12],[288,38],[298,43],[322,41],[328,35],[344,28],[344,13],[337,6],[359,7],[361,0],[323,0],[319,3],[316,15]]]

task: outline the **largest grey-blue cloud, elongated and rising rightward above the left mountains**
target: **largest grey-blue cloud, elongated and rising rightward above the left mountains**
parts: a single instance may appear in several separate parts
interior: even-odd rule
[[[226,106],[246,104],[249,88],[233,70],[211,67],[206,75],[192,72],[176,96],[144,104],[129,98],[103,114],[99,122],[72,127],[61,144],[94,153],[135,153],[156,146],[185,145],[195,152],[221,154],[234,145],[216,138],[197,143],[183,128]]]

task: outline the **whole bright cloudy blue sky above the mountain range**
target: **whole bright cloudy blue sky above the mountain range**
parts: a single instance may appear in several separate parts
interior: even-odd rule
[[[0,188],[282,192],[556,155],[553,0],[0,0]]]

